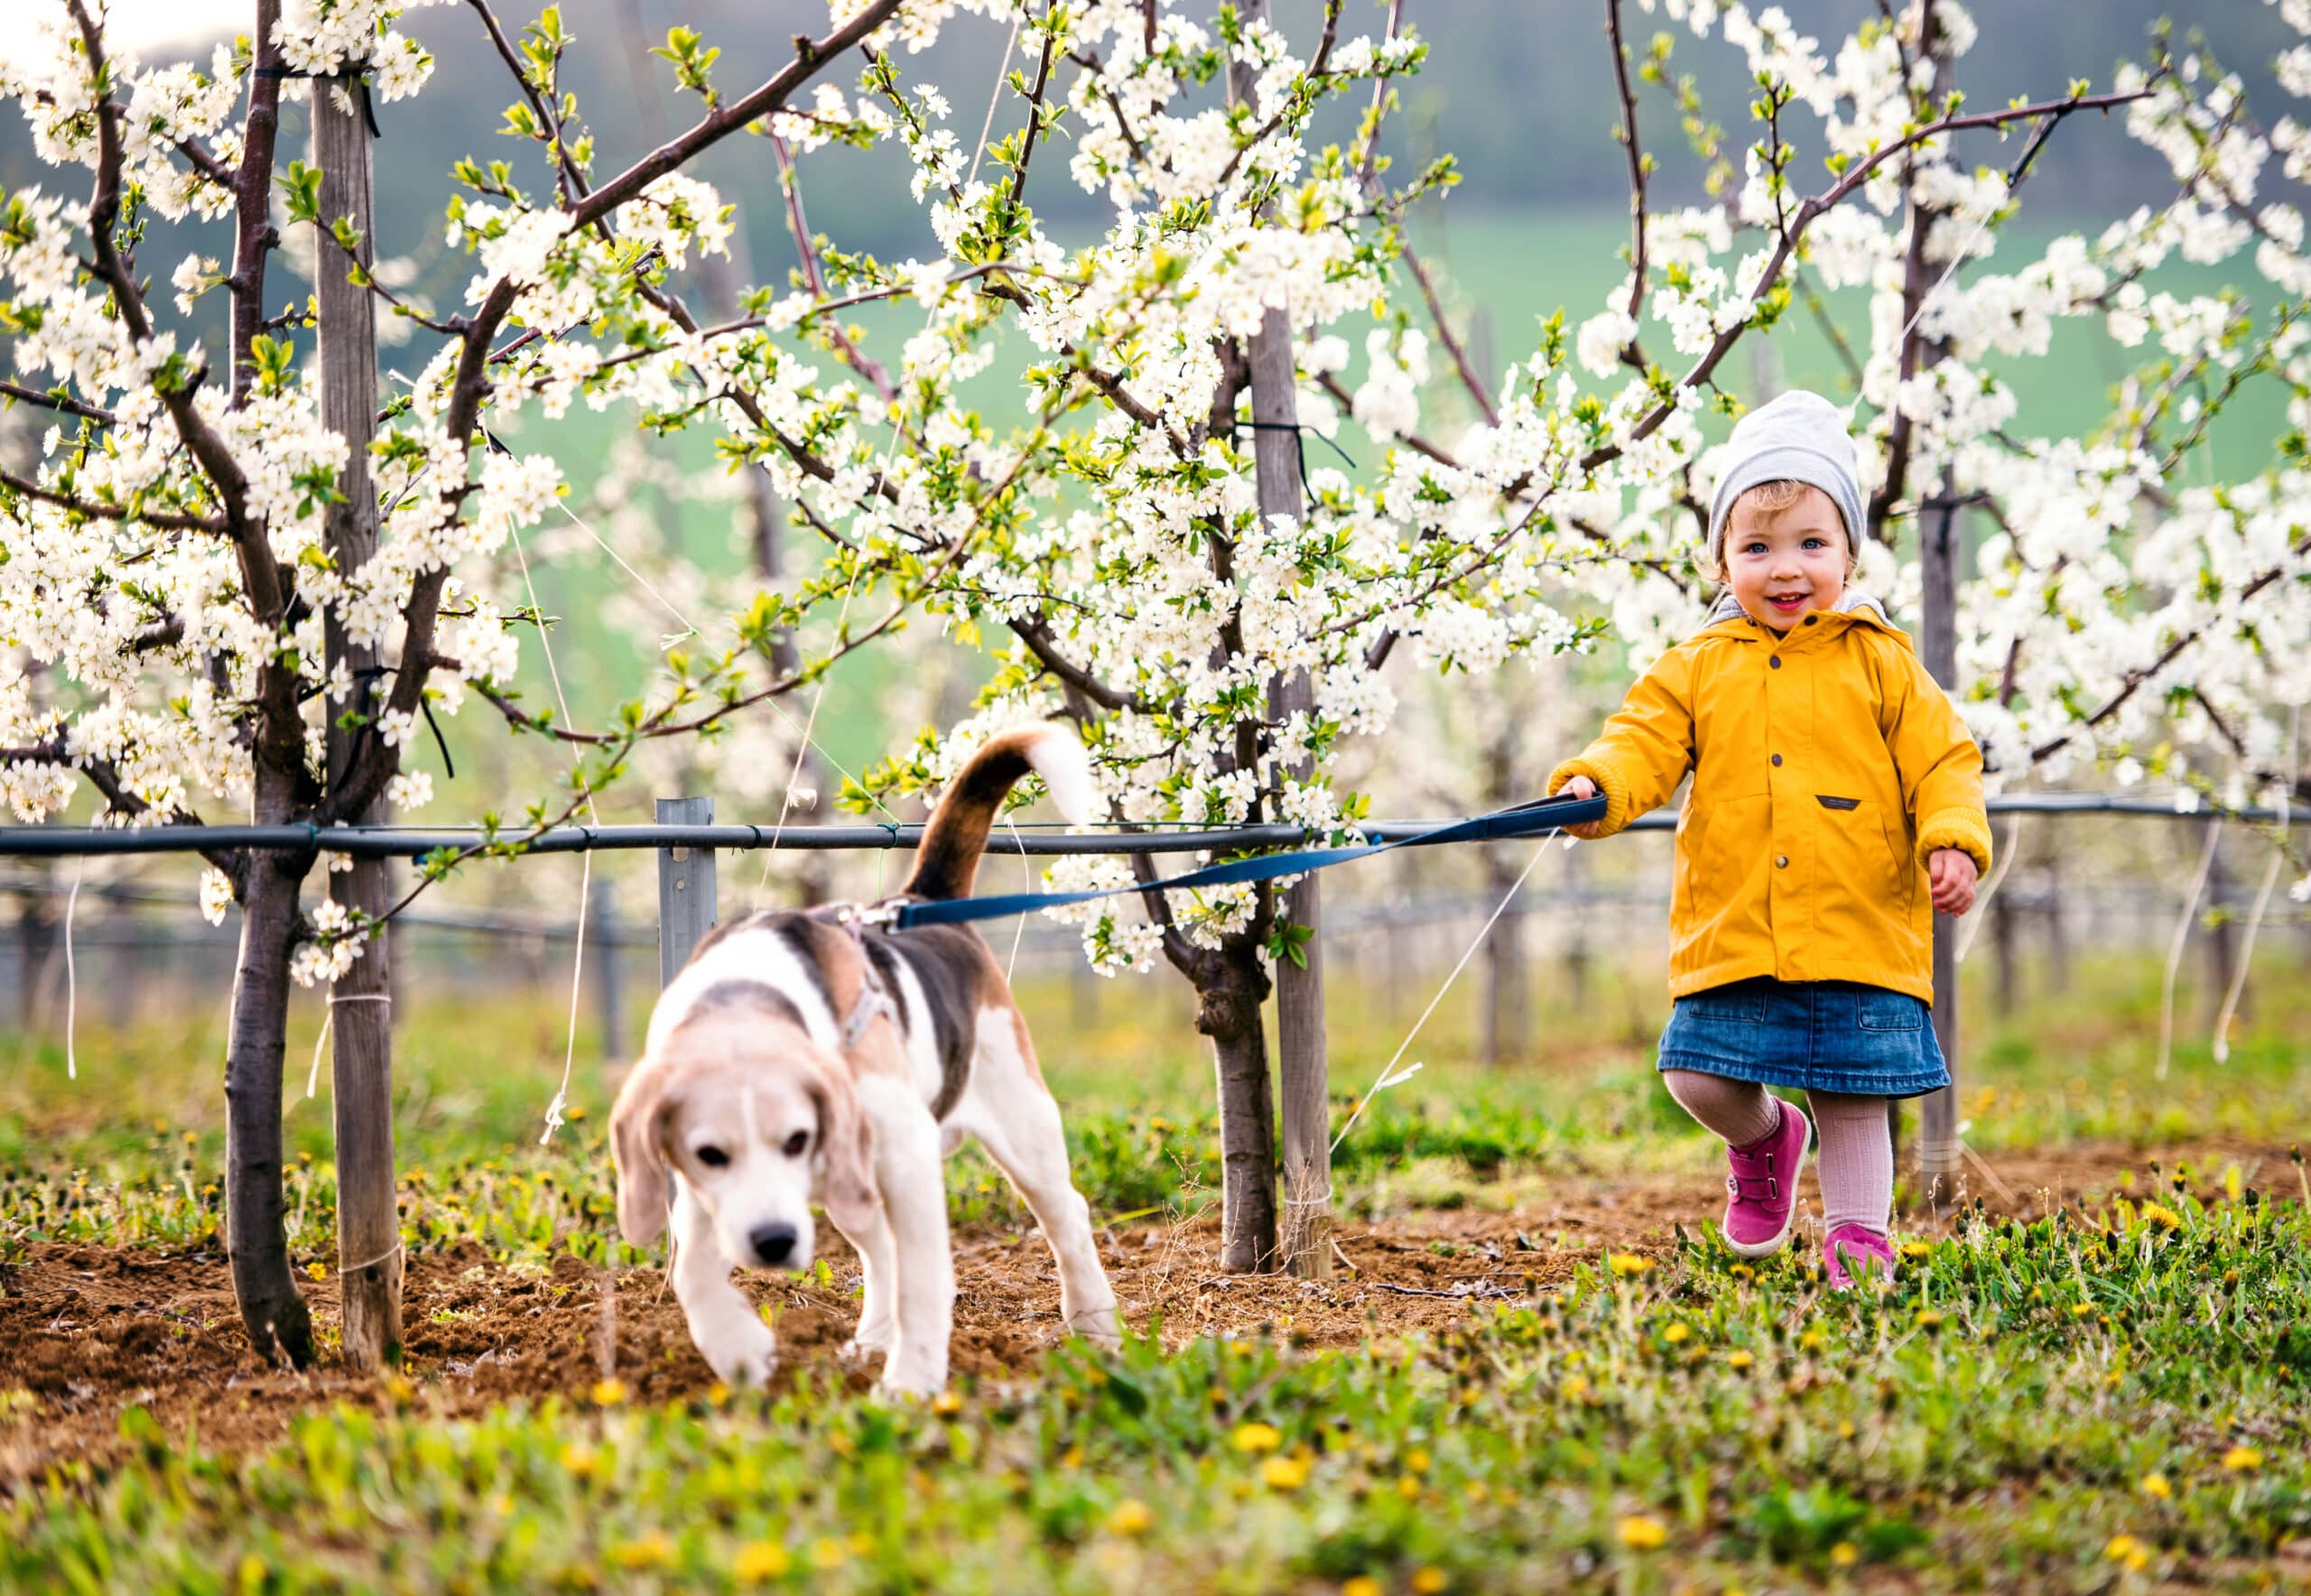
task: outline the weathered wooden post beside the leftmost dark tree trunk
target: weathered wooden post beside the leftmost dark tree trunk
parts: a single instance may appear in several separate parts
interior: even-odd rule
[[[337,104],[342,88],[347,104]],[[370,483],[370,437],[377,416],[377,303],[349,279],[344,252],[328,229],[337,217],[361,233],[356,259],[370,266],[372,157],[363,115],[361,76],[312,85],[312,164],[321,169],[321,238],[314,270],[321,321],[321,425],[344,434],[342,504],[328,508],[326,540],[337,570],[351,575],[377,554],[377,487]],[[324,617],[330,672],[354,677],[347,709],[351,725],[330,718],[330,785],[344,781],[367,721],[384,700],[377,647],[351,642],[337,610]],[[377,799],[356,825],[384,825]],[[384,915],[393,903],[386,859],[361,859],[335,882],[335,898],[358,915]],[[361,959],[330,989],[330,1102],[337,1125],[337,1289],[344,1305],[344,1360],[377,1370],[402,1356],[402,1222],[393,1206],[393,942],[370,938]]]

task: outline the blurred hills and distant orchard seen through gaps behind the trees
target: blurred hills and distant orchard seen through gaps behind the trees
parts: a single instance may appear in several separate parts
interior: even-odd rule
[[[247,7],[215,0],[176,5],[116,5],[113,23],[139,44],[146,60],[190,55],[206,60],[215,37]],[[1278,21],[1296,39],[1313,39],[1313,0],[1278,0]],[[1844,37],[1874,5],[1851,0],[1791,0],[1786,12],[1805,32]],[[765,76],[790,53],[790,39],[823,30],[823,2],[795,0],[569,0],[564,25],[578,35],[566,88],[599,139],[599,171],[615,171],[670,136],[696,115],[696,99],[677,102],[670,72],[649,58],[675,23],[698,28],[723,53],[716,83],[735,90]],[[2006,104],[2013,95],[2059,97],[2073,79],[2105,88],[2121,60],[2142,60],[2158,5],[2149,0],[2008,0],[1983,14],[1997,49],[1960,60],[1969,104]],[[1565,309],[1569,321],[1595,312],[1622,279],[1627,247],[1627,166],[1613,141],[1618,102],[1606,55],[1604,12],[1595,0],[1410,0],[1405,18],[1437,49],[1419,79],[1405,85],[1387,148],[1398,176],[1451,152],[1463,182],[1424,203],[1414,243],[1437,268],[1447,312],[1467,335],[1472,360],[1488,381],[1530,353],[1537,319]],[[504,12],[518,28],[527,14]],[[1343,32],[1380,35],[1387,7],[1350,0]],[[2269,60],[2288,35],[2272,7],[2251,0],[2198,7],[2191,23],[2205,49],[2244,72],[2265,104]],[[243,23],[247,25],[247,23]],[[1643,51],[1655,30],[1671,30],[1675,74],[1694,74],[1712,120],[1726,129],[1736,155],[1749,139],[1747,85],[1738,58],[1722,44],[1699,44],[1682,25],[1627,7],[1632,46]],[[469,259],[444,243],[448,169],[460,157],[513,159],[515,180],[545,187],[529,146],[499,136],[499,111],[513,97],[504,65],[481,44],[467,7],[411,12],[404,21],[428,42],[439,65],[414,102],[379,106],[377,146],[379,254],[411,293],[432,305],[455,305]],[[927,79],[954,102],[952,125],[968,136],[982,120],[998,76],[1005,28],[957,18],[938,46],[901,60],[911,79]],[[21,32],[0,30],[0,60],[23,49]],[[837,79],[848,90],[848,74]],[[1687,148],[1669,95],[1641,95],[1645,148],[1659,159],[1655,203],[1703,203],[1703,162]],[[998,106],[996,134],[1015,120]],[[1350,127],[1333,129],[1343,139]],[[282,134],[287,152],[305,143],[303,113],[291,106]],[[1061,146],[1063,152],[1063,146]],[[1981,159],[2011,164],[2015,150],[1981,141]],[[931,256],[922,210],[906,192],[904,162],[887,152],[827,150],[804,162],[809,226],[844,249],[883,259]],[[740,284],[786,291],[795,263],[779,203],[770,148],[733,139],[700,166],[728,201],[740,206],[735,245]],[[0,187],[79,189],[79,173],[37,162],[21,125],[0,125]],[[1821,171],[1805,157],[1800,185],[1819,187]],[[2115,122],[2073,118],[2052,139],[2031,176],[2022,217],[1994,240],[1976,245],[1967,270],[2011,270],[2034,259],[2048,238],[2082,231],[2089,238],[2121,222],[2138,203],[2172,192],[2163,162],[2128,141]],[[1038,164],[1028,192],[1054,233],[1088,243],[1107,224],[1105,194],[1084,194],[1068,180],[1065,162]],[[224,233],[201,238],[155,226],[143,263],[164,279],[187,249],[222,252]],[[291,266],[296,249],[289,252]],[[2175,261],[2154,275],[2154,289],[2216,291],[2221,268]],[[277,279],[282,303],[305,286]],[[157,296],[166,298],[166,296]],[[194,337],[222,333],[222,296],[210,296],[187,319]],[[904,335],[904,312],[862,316],[869,340]],[[1858,296],[1830,296],[1821,321],[1791,316],[1773,340],[1752,340],[1736,383],[1754,388],[1814,386],[1851,393],[1837,337],[1865,340]],[[2110,409],[2124,376],[2119,351],[2098,333],[2057,328],[2054,356],[2011,372],[2022,400],[2022,423],[2034,434],[2080,434]],[[2075,340],[2075,349],[2066,346]],[[1350,342],[1361,342],[1352,333]],[[404,356],[386,349],[386,365],[404,376],[425,349]],[[407,365],[402,365],[407,360]],[[1444,367],[1444,360],[1437,360]],[[1017,411],[998,358],[982,404],[996,425]],[[1424,430],[1451,437],[1467,423],[1467,402],[1444,381],[1426,395]],[[1010,407],[1010,409],[1005,409]],[[37,450],[42,420],[0,416],[0,450]],[[2225,411],[2193,467],[2244,473],[2281,434],[2281,395],[2242,400]],[[742,610],[753,587],[756,550],[744,515],[744,485],[712,462],[707,439],[670,443],[642,439],[631,416],[592,416],[578,407],[566,423],[511,430],[522,448],[552,448],[571,476],[571,522],[532,534],[543,607],[562,617],[552,640],[575,721],[599,718],[610,704],[642,691],[654,654],[679,621],[640,594],[596,547],[592,534],[654,570],[654,559],[679,554],[705,573],[698,591],[673,594],[686,617]],[[1354,425],[1340,430],[1343,450],[1361,464],[1380,453]],[[1322,453],[1322,450],[1317,450]],[[1317,453],[1310,464],[1317,464]],[[800,545],[797,545],[800,550]],[[800,550],[807,554],[807,550]],[[696,607],[693,607],[696,605]],[[1902,619],[1902,617],[1897,617]],[[922,628],[929,631],[929,628]],[[548,686],[538,651],[525,644],[525,686],[543,700]],[[846,771],[904,746],[924,725],[948,725],[968,714],[984,679],[987,656],[936,640],[911,642],[904,654],[867,651],[830,679],[816,711],[816,755],[809,778],[832,797]],[[1400,737],[1350,755],[1343,783],[1373,795],[1387,818],[1442,818],[1530,797],[1548,767],[1576,748],[1613,707],[1627,674],[1613,649],[1590,658],[1548,658],[1509,665],[1498,679],[1421,677],[1396,665],[1403,695]],[[790,709],[807,711],[802,700]],[[485,808],[518,815],[552,790],[559,755],[536,739],[511,741],[485,711],[444,721],[444,741],[425,739],[416,767],[434,778],[437,797],[416,815],[425,825],[458,825]],[[753,741],[749,741],[753,739]],[[742,728],[735,751],[707,765],[691,751],[652,751],[603,801],[605,820],[640,820],[654,797],[712,792],[721,820],[770,822],[790,769],[793,730],[763,718]],[[455,774],[451,774],[451,767]],[[206,818],[233,820],[208,806]],[[795,815],[830,815],[830,804]],[[906,818],[913,818],[908,813]],[[1964,970],[1971,1016],[1969,1056],[1997,1062],[2015,1049],[2045,1069],[2073,1062],[2147,1062],[2156,1049],[2163,984],[2175,961],[2177,1035],[2182,1049],[2207,1058],[2212,1019],[2242,956],[2242,919],[2269,857],[2267,841],[2244,827],[2209,852],[2207,822],[2054,820],[1999,825],[2015,864],[1971,933]],[[1530,845],[1498,850],[1437,850],[1396,855],[1327,878],[1327,933],[1333,986],[1336,1067],[1347,1072],[1382,1060],[1437,982],[1477,933],[1523,868]],[[721,908],[726,915],[795,901],[802,892],[874,896],[904,878],[904,857],[830,855],[807,866],[786,852],[765,862],[726,855]],[[515,866],[467,866],[446,889],[428,894],[418,912],[393,933],[395,1021],[423,1095],[418,1116],[455,1113],[460,1092],[518,1092],[543,1106],[559,1072],[564,1026],[571,1014],[571,963],[578,931],[578,862],[529,859]],[[1666,1014],[1669,838],[1627,836],[1597,848],[1553,852],[1532,875],[1523,898],[1502,919],[1479,959],[1424,1035],[1421,1053],[1467,1067],[1537,1065],[1546,1069],[1638,1067]],[[991,862],[989,889],[1026,885],[1012,859]],[[2205,880],[2200,910],[2186,901]],[[72,915],[72,977],[67,979],[65,910]],[[319,892],[319,875],[310,882]],[[60,1083],[67,1049],[67,991],[74,1002],[79,1049],[113,1037],[125,1062],[122,1090],[166,1090],[187,1104],[206,1095],[208,1069],[222,1060],[224,1012],[233,970],[233,924],[210,928],[192,910],[194,868],[185,862],[90,859],[0,862],[0,1157],[53,1116],[72,1113]],[[631,1056],[656,991],[656,887],[649,855],[608,855],[594,873],[587,968],[575,1000],[578,1058],[594,1072],[580,1102],[605,1099],[601,1067]],[[1188,991],[1169,972],[1107,982],[1088,975],[1065,926],[994,926],[989,940],[1012,956],[1045,1053],[1084,1065],[1109,1060],[1202,1069]],[[2177,940],[2179,938],[2179,940]],[[2293,995],[2311,972],[2311,924],[2283,892],[2272,903],[2258,945],[2258,972],[2246,989],[2237,1032],[2267,1037],[2272,1069],[2295,1072],[2286,1039],[2302,1035]],[[291,1046],[310,1046],[319,1028],[319,993],[296,998],[300,1030]],[[439,1060],[471,1060],[476,1021],[488,1021],[488,1067],[504,1079],[488,1088],[465,1079],[467,1062],[428,1069]],[[300,1039],[298,1039],[300,1037]],[[2131,1069],[2133,1062],[2126,1062]],[[183,1079],[162,1086],[159,1076]],[[300,1079],[300,1062],[291,1060]],[[2299,1074],[2299,1072],[2295,1072]],[[2054,1076],[2050,1076],[2054,1079]],[[446,1083],[444,1083],[446,1081]],[[2244,1086],[2244,1081],[2242,1081]],[[46,1106],[37,1109],[35,1099]],[[2242,1109],[2244,1113],[2244,1109]],[[515,1116],[518,1118],[518,1116]],[[492,1118],[492,1123],[497,1123]],[[511,1120],[508,1120],[511,1123]],[[303,1127],[303,1129],[300,1129]],[[324,1111],[291,1116],[291,1134],[326,1132]],[[16,1143],[16,1146],[12,1146]]]

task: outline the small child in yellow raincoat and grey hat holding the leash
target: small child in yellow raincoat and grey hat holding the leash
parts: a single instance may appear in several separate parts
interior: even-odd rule
[[[1710,506],[1710,624],[1551,774],[1604,795],[1611,836],[1694,771],[1678,818],[1662,1079],[1726,1141],[1724,1233],[1789,1240],[1807,1118],[1821,1129],[1828,1280],[1893,1275],[1888,1097],[1950,1083],[1927,1023],[1934,910],[1990,868],[1983,760],[1909,637],[1846,587],[1863,515],[1853,439],[1814,393],[1733,427]]]

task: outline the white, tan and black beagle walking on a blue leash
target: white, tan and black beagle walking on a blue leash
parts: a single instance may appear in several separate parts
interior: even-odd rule
[[[1091,765],[1075,734],[1003,732],[948,788],[901,896],[968,896],[987,831],[1028,771],[1084,822]],[[887,1395],[948,1384],[954,1259],[941,1159],[964,1136],[1042,1224],[1065,1326],[1119,1344],[1091,1206],[1003,968],[971,926],[887,931],[880,919],[832,905],[716,926],[659,998],[610,1111],[619,1229],[647,1247],[673,1222],[675,1296],[730,1384],[770,1379],[776,1351],[730,1270],[807,1270],[811,1203],[867,1270],[844,1356],[880,1351]]]

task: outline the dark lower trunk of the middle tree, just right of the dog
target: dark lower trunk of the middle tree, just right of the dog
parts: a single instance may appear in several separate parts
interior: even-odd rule
[[[1220,1268],[1276,1268],[1276,1102],[1262,1002],[1259,949],[1239,938],[1209,954],[1197,979],[1195,1028],[1211,1037],[1220,1079]]]

